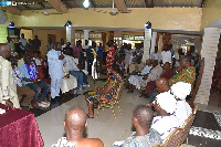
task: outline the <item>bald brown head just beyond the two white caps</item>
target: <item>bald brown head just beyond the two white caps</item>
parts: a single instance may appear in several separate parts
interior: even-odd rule
[[[160,77],[156,81],[157,91],[164,93],[169,91],[169,81],[165,77]]]

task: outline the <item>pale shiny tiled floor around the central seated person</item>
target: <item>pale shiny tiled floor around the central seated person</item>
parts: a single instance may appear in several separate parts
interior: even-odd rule
[[[92,78],[88,78],[91,87],[86,87],[78,92],[82,95],[74,97],[73,99],[57,106],[39,117],[36,122],[41,135],[44,140],[44,146],[50,147],[52,144],[64,136],[65,132],[62,126],[64,115],[66,111],[73,106],[81,106],[87,113],[87,105],[84,99],[83,93],[91,91],[94,87]],[[103,85],[102,81],[95,83],[95,85]],[[133,94],[127,94],[127,91],[123,91],[122,99],[119,101],[122,114],[119,114],[117,106],[115,106],[116,119],[114,118],[110,109],[99,111],[99,115],[95,115],[95,118],[87,119],[88,126],[85,129],[85,137],[101,138],[104,141],[105,147],[112,146],[115,140],[122,140],[130,136],[133,130],[131,125],[131,111],[138,104],[147,104],[148,99],[140,98],[138,91]],[[219,111],[215,103],[211,103],[209,106],[200,105],[201,109]],[[97,109],[95,109],[96,113]]]

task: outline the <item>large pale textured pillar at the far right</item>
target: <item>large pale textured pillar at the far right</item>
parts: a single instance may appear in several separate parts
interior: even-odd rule
[[[204,29],[202,50],[201,50],[201,56],[204,57],[204,70],[194,103],[208,104],[209,102],[219,39],[220,39],[220,29],[218,28]]]

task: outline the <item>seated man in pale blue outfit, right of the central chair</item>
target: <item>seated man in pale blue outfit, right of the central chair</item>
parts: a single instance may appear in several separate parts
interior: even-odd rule
[[[138,73],[138,75],[130,75],[128,81],[130,83],[129,86],[129,91],[128,93],[133,93],[136,88],[140,88],[140,80],[145,76],[148,75],[149,71],[151,70],[151,61],[150,60],[146,60],[146,66],[144,67],[144,70],[141,71],[141,73]]]

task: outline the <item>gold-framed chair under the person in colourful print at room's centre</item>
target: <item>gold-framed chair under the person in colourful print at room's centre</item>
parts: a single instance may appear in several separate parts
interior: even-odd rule
[[[117,96],[114,101],[112,101],[112,102],[99,102],[98,103],[98,105],[97,105],[97,116],[99,114],[101,108],[103,108],[103,111],[104,111],[104,108],[112,108],[113,115],[116,119],[116,114],[115,114],[115,111],[114,111],[114,105],[116,105],[116,104],[118,106],[119,113],[122,114],[122,111],[120,111],[120,107],[119,107],[119,99],[122,97],[123,88],[124,88],[124,82],[120,83],[118,92],[117,92]]]

